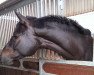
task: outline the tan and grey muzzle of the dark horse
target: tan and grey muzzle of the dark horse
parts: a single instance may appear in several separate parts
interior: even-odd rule
[[[12,48],[4,48],[1,52],[1,63],[4,65],[12,65],[14,59],[17,59],[20,54]]]

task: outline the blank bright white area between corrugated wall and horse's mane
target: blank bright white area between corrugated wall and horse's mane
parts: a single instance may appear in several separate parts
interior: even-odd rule
[[[80,25],[90,29],[91,33],[94,34],[94,12],[71,16],[69,18],[76,20]]]

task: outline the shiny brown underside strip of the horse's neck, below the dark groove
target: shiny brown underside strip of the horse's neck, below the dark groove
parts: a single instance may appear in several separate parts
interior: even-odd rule
[[[57,52],[58,54],[62,55],[65,59],[74,59],[74,57],[70,53],[68,53],[66,50],[64,50],[54,42],[48,41],[42,37],[38,37],[38,40],[41,43],[41,46],[40,46],[41,48],[51,49]]]

